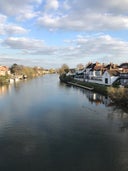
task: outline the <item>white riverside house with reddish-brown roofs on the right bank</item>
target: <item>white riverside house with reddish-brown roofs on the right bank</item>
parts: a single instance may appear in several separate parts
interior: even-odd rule
[[[98,62],[89,63],[83,71],[76,73],[74,78],[85,82],[112,85],[120,77],[120,73],[118,68],[112,68],[111,65],[109,65],[111,68],[109,69]]]

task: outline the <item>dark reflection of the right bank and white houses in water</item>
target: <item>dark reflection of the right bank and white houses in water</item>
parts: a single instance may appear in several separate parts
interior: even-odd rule
[[[64,85],[63,85],[64,86]],[[128,108],[117,106],[115,103],[108,96],[101,95],[99,93],[95,93],[92,91],[84,90],[81,88],[76,88],[71,86],[77,91],[80,91],[84,96],[87,97],[88,101],[95,106],[102,106],[104,105],[106,108],[110,108],[108,110],[107,118],[109,120],[120,121],[118,126],[120,132],[127,132],[128,131]],[[70,87],[70,88],[71,88]]]

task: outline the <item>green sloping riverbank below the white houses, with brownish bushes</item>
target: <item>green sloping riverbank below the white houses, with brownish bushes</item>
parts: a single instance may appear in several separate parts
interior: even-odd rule
[[[113,103],[118,104],[119,106],[128,106],[128,88],[115,88],[112,86],[105,86],[96,83],[84,82],[73,79],[71,76],[61,75],[60,81],[70,84],[90,89],[91,91],[100,93],[105,96],[109,96]]]

